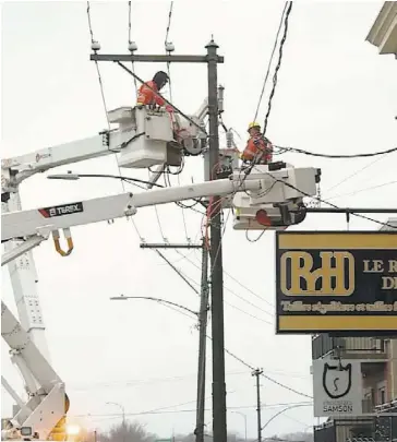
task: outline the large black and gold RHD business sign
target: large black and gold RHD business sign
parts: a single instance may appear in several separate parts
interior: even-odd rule
[[[277,333],[397,335],[397,231],[276,232]]]

